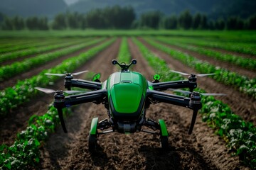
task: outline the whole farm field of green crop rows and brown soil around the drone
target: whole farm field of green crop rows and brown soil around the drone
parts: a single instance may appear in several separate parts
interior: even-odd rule
[[[0,33],[0,167],[2,169],[256,169],[255,31],[48,31]],[[50,104],[53,95],[33,89],[64,89],[46,72],[81,72],[75,79],[105,81],[129,62],[152,81],[187,79],[171,72],[215,73],[198,77],[197,91],[227,94],[202,99],[188,135],[192,111],[156,103],[148,118],[164,119],[169,150],[144,132],[100,135],[97,152],[87,147],[92,118],[107,118],[103,105],[65,111],[68,134]],[[172,93],[170,91],[170,93]]]

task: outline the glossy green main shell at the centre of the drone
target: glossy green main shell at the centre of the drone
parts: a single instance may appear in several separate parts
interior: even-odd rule
[[[138,110],[142,96],[146,96],[147,81],[138,72],[115,72],[107,79],[108,99],[110,96],[115,111],[134,113]]]

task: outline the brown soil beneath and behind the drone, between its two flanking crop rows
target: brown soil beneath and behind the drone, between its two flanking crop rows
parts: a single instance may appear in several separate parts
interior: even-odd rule
[[[131,40],[129,48],[132,57],[137,59],[134,71],[142,72],[150,80],[154,72]],[[107,79],[116,71],[111,60],[117,57],[118,49],[119,42],[101,52],[81,70],[101,72],[102,80]],[[163,57],[162,54],[159,57]],[[102,105],[81,104],[73,107],[73,114],[66,120],[68,134],[58,128],[41,148],[38,169],[248,169],[242,166],[238,157],[230,156],[223,140],[201,122],[200,116],[193,134],[188,135],[191,115],[192,111],[187,108],[164,103],[148,109],[146,117],[166,121],[169,150],[165,153],[161,152],[156,135],[114,132],[100,135],[97,151],[89,154],[87,137],[91,120],[94,117],[107,118],[107,111]]]

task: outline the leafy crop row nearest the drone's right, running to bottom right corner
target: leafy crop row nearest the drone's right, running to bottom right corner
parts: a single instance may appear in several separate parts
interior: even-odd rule
[[[155,72],[164,77],[164,81],[182,79],[180,75],[171,72],[164,60],[151,53],[139,40],[133,38],[142,55],[149,62]],[[197,89],[199,92],[205,92]],[[247,123],[240,116],[235,115],[229,106],[215,100],[213,96],[202,96],[203,108],[201,114],[203,121],[216,130],[223,137],[228,147],[239,155],[247,166],[256,168],[256,128],[252,123]]]

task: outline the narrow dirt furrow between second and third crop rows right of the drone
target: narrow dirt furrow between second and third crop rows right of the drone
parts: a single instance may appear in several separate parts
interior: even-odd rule
[[[142,38],[140,38],[140,40],[142,40]],[[205,55],[201,55],[198,52],[193,52],[192,50],[186,50],[186,49],[184,49],[182,47],[178,47],[176,45],[169,45],[169,44],[166,44],[166,43],[160,42],[160,41],[158,41],[158,42],[161,43],[162,45],[166,45],[168,47],[171,47],[174,50],[178,50],[178,51],[184,52],[188,55],[191,55],[193,57],[196,57],[198,60],[202,60],[204,62],[209,62],[210,64],[213,64],[216,67],[221,67],[223,69],[228,69],[230,72],[236,72],[240,75],[248,77],[249,79],[255,79],[256,72],[253,71],[253,70],[245,69],[243,67],[232,64],[230,62],[223,62],[223,61],[220,61],[220,60],[216,60],[213,57],[208,57],[208,56],[205,56]]]

